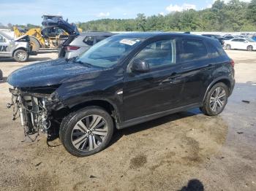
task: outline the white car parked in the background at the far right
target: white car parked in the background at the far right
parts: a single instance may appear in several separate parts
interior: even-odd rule
[[[249,38],[234,38],[230,40],[225,40],[224,46],[227,50],[256,50],[256,42],[253,39]]]

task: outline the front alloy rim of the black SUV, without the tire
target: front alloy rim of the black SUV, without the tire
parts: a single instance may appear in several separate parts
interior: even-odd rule
[[[108,125],[105,119],[92,114],[79,120],[71,133],[73,146],[83,152],[99,147],[108,134]]]

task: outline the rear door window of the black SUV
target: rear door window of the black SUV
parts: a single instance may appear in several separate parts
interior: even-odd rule
[[[208,58],[206,45],[200,40],[182,39],[179,58],[181,62]]]

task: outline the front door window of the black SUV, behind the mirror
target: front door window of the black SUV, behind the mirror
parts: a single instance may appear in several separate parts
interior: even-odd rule
[[[135,59],[145,61],[149,68],[157,68],[176,63],[176,41],[174,39],[161,40],[148,44]]]

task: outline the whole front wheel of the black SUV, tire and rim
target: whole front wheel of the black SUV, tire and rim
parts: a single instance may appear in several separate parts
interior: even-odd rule
[[[98,106],[90,106],[65,117],[61,122],[59,137],[71,155],[86,157],[108,146],[113,127],[108,112]]]

